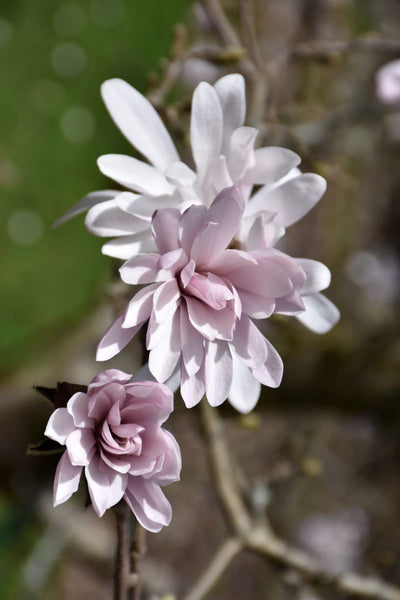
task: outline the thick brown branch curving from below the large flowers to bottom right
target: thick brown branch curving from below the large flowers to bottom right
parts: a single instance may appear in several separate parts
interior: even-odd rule
[[[267,520],[260,524],[254,519],[243,501],[235,480],[218,411],[211,408],[205,400],[201,403],[201,411],[216,488],[229,523],[236,533],[238,545],[266,559],[272,559],[285,567],[295,569],[310,582],[330,585],[358,598],[400,600],[400,589],[378,578],[351,572],[332,576],[320,561],[279,538]],[[224,568],[227,566],[228,564],[225,564]],[[202,578],[199,581],[201,580]],[[204,595],[195,596],[195,599],[200,600]]]

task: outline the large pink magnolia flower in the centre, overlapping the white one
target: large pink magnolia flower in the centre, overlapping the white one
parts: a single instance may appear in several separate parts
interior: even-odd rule
[[[101,340],[97,360],[108,360],[148,321],[149,369],[164,382],[179,363],[188,407],[204,393],[212,406],[227,397],[238,410],[256,404],[260,384],[277,387],[282,360],[252,319],[304,310],[299,290],[329,285],[314,261],[294,261],[274,249],[227,249],[242,219],[238,187],[222,191],[209,209],[156,211],[152,231],[159,253],[139,254],[120,269],[141,289]],[[307,283],[308,282],[308,283]]]

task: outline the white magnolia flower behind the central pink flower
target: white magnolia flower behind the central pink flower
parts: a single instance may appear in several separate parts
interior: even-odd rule
[[[121,154],[101,156],[100,171],[129,191],[88,194],[58,223],[89,209],[89,231],[114,238],[103,246],[108,256],[129,259],[153,251],[151,217],[156,209],[209,207],[233,184],[246,202],[235,236],[238,245],[244,250],[271,248],[325,192],[325,180],[301,173],[300,157],[291,150],[254,149],[258,131],[244,126],[245,84],[239,74],[226,75],[214,86],[202,82],[194,91],[190,139],[195,171],[180,161],[159,115],[142,94],[111,79],[103,83],[102,96],[123,135],[151,164]],[[252,194],[254,186],[261,187]],[[337,308],[314,293],[312,282],[302,295],[306,311],[298,318],[317,333],[328,331],[339,318]]]

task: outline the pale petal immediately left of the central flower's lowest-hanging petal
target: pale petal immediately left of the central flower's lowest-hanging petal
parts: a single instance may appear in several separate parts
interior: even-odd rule
[[[232,355],[226,342],[206,342],[205,379],[209,404],[219,406],[227,399],[232,384]]]

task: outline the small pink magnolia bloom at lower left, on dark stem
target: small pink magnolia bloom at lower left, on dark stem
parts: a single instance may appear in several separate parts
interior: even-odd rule
[[[94,510],[101,517],[122,498],[149,531],[171,521],[171,505],[160,486],[179,480],[181,455],[161,427],[173,410],[172,392],[153,381],[128,383],[116,369],[93,379],[58,408],[47,437],[67,449],[57,466],[54,506],[77,491],[83,469]]]

